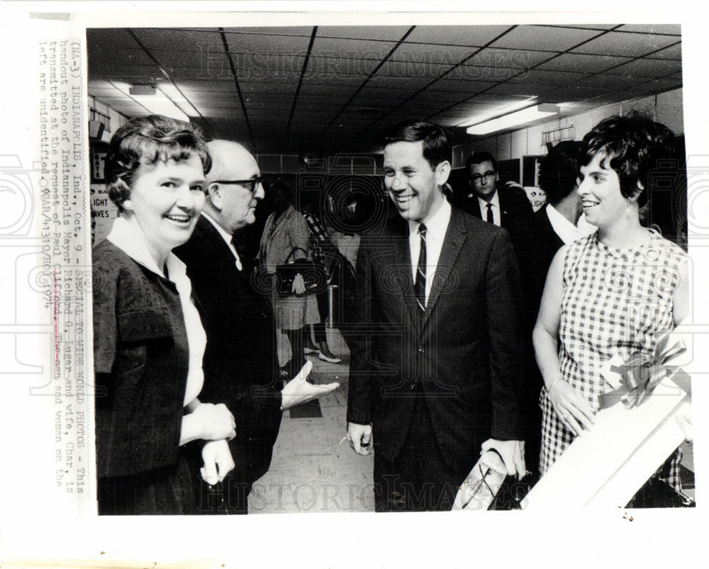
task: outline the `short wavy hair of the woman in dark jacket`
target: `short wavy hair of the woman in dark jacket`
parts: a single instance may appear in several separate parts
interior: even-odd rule
[[[212,165],[201,130],[162,115],[135,117],[111,137],[106,154],[108,197],[123,211],[141,164],[189,159],[197,154],[205,174]]]

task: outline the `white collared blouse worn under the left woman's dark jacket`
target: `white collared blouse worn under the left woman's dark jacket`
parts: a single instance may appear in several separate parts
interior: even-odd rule
[[[147,250],[147,244],[142,239],[143,233],[126,220],[116,218],[113,227],[106,239],[121,249],[136,263],[143,265],[149,271],[164,277],[162,269],[157,266],[152,255]],[[199,312],[192,303],[192,283],[186,273],[186,265],[174,253],[167,255],[165,261],[167,274],[177,288],[179,302],[184,315],[184,327],[187,332],[187,346],[189,347],[189,367],[187,369],[187,385],[184,391],[184,405],[199,395],[204,383],[202,372],[202,358],[207,345],[207,334],[202,327]]]

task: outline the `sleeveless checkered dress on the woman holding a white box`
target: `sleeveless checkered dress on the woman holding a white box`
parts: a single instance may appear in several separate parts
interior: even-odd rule
[[[593,233],[569,246],[564,258],[564,295],[559,324],[559,362],[564,378],[593,407],[612,390],[601,367],[619,354],[625,361],[652,354],[658,332],[674,328],[673,295],[688,257],[651,230],[648,244],[612,249]],[[574,440],[554,411],[546,388],[542,407],[540,471],[545,473]],[[679,458],[666,473],[679,490]]]

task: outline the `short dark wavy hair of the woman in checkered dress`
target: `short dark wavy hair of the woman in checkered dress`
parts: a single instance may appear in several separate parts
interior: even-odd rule
[[[602,120],[581,143],[579,164],[589,164],[596,154],[603,154],[601,166],[613,169],[620,179],[620,193],[632,198],[638,193],[638,182],[645,191],[638,196],[642,207],[652,191],[652,177],[668,159],[674,158],[674,134],[661,123],[632,112]],[[661,161],[666,161],[661,164]],[[606,165],[606,161],[608,165]]]

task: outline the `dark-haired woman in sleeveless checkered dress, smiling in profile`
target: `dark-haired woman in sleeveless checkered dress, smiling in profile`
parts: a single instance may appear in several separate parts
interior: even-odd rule
[[[686,253],[642,227],[639,215],[671,138],[635,115],[603,120],[584,137],[578,191],[598,231],[559,249],[533,332],[545,382],[542,474],[593,424],[598,395],[611,390],[601,366],[615,355],[652,354],[657,334],[688,314]]]

